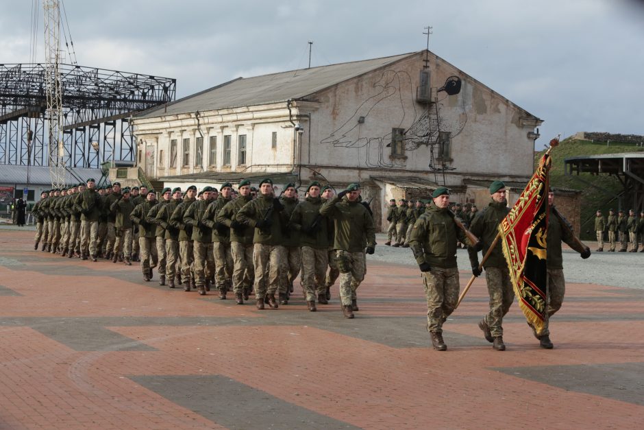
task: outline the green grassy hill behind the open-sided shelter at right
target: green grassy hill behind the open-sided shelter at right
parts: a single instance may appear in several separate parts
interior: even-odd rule
[[[545,150],[535,153],[535,160],[538,161],[544,152]],[[619,180],[614,176],[593,176],[591,174],[580,174],[579,176],[573,174],[566,176],[564,160],[565,158],[574,156],[617,154],[621,152],[644,152],[644,148],[623,143],[610,143],[610,145],[606,145],[606,142],[565,139],[561,141],[558,147],[552,148],[550,152],[552,156],[550,184],[552,187],[579,189],[583,191],[581,203],[582,239],[593,240],[595,238],[595,233],[592,230],[594,230],[595,211],[597,209],[601,209],[604,215],[608,215],[609,208],[615,208],[615,211],[617,211],[617,195],[623,191],[623,188]],[[609,191],[610,195],[593,186],[589,186],[589,184],[582,182],[579,178],[590,182],[596,187]],[[630,200],[627,198],[624,202],[628,205]],[[586,230],[591,230],[591,233],[586,233]]]

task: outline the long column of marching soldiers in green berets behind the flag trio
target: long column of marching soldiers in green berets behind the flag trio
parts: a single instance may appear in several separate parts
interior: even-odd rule
[[[316,311],[316,302],[328,304],[339,276],[341,309],[354,318],[364,254],[375,247],[371,210],[359,194],[359,184],[334,195],[313,181],[300,201],[295,184],[276,196],[265,178],[258,189],[242,180],[236,191],[225,182],[219,190],[197,193],[193,185],[157,195],[146,187],[121,189],[119,182],[97,188],[90,178],[43,191],[32,210],[34,250],[42,242],[43,252],[69,259],[140,261],[145,281],[156,268],[160,285],[201,295],[215,287],[222,300],[232,291],[237,304],[254,295],[258,309],[288,304],[301,272],[308,309]]]

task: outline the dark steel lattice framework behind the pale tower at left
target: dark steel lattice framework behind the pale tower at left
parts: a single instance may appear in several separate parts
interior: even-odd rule
[[[62,163],[99,167],[135,160],[129,119],[173,101],[176,80],[60,64],[60,88]],[[0,64],[0,164],[48,165],[47,107],[45,65]]]

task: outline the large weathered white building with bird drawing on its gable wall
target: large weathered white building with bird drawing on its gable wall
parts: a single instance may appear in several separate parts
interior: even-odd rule
[[[444,184],[465,202],[475,187],[465,180],[527,181],[541,123],[423,50],[240,77],[144,112],[133,126],[149,178],[359,181],[380,225],[393,196],[429,196]]]

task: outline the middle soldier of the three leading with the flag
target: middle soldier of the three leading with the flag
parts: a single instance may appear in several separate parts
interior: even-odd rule
[[[471,224],[470,231],[480,238],[482,251],[485,255],[497,237],[499,224],[508,215],[510,208],[506,201],[506,185],[500,180],[492,182],[489,188],[491,202],[484,208]],[[480,276],[478,253],[474,248],[468,247],[469,261],[474,276]],[[497,351],[506,350],[503,343],[503,317],[510,310],[512,300],[515,299],[515,292],[512,289],[508,263],[503,256],[501,241],[497,241],[490,252],[488,259],[483,263],[485,268],[485,280],[490,296],[490,310],[478,323],[483,331],[485,339],[492,342],[492,347]]]

